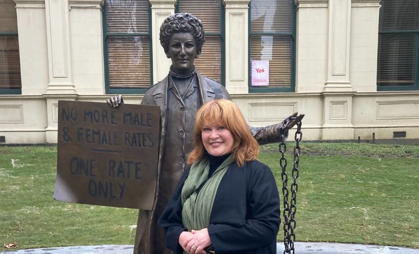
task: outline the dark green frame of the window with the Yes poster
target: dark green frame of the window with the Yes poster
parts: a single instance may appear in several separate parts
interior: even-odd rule
[[[250,17],[252,16],[252,3],[249,2],[248,5],[248,49],[247,49],[247,58],[248,58],[248,83],[247,87],[249,93],[294,93],[295,92],[295,83],[296,83],[296,26],[297,26],[297,7],[292,1],[292,32],[290,33],[270,33],[270,32],[252,32],[250,30],[250,24],[252,20]],[[267,87],[252,87],[252,78],[250,78],[250,74],[252,72],[252,60],[250,59],[250,38],[252,35],[267,35],[267,36],[280,36],[280,35],[288,35],[291,38],[291,83],[289,87],[281,87],[281,88],[267,88]]]

